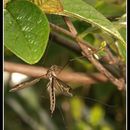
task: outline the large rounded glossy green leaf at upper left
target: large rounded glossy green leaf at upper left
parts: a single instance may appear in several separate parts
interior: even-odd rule
[[[13,1],[4,12],[4,44],[16,56],[34,64],[43,56],[49,23],[45,14],[28,1]]]

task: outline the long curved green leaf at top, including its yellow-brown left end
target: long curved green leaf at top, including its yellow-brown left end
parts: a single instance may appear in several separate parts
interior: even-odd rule
[[[42,0],[39,1],[40,2],[36,1],[35,3],[45,12],[65,15],[68,17],[73,17],[88,22],[108,32],[118,40],[122,41],[120,43],[123,44],[124,47],[126,46],[124,39],[122,38],[120,33],[116,30],[114,25],[108,19],[106,19],[101,13],[99,13],[95,8],[85,3],[84,1],[82,0],[75,0],[75,1],[46,0],[44,2],[42,2]]]

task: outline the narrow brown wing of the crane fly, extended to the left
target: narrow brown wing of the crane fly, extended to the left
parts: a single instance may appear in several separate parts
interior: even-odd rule
[[[41,79],[41,77],[40,77],[40,78],[37,78],[37,79],[34,79],[34,80],[32,80],[32,81],[26,81],[26,82],[20,83],[20,84],[14,86],[14,87],[10,90],[10,92],[14,92],[14,91],[17,91],[17,90],[21,90],[21,89],[23,89],[23,88],[31,87],[32,85],[36,84],[40,79]]]

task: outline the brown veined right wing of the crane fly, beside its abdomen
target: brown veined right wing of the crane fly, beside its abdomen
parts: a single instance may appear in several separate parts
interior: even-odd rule
[[[55,88],[60,91],[62,94],[67,95],[67,96],[73,96],[72,93],[70,92],[71,87],[55,77]]]

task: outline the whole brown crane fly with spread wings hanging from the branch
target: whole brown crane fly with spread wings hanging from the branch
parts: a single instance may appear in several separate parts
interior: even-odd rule
[[[49,82],[47,84],[47,89],[49,90],[49,97],[50,97],[50,111],[51,114],[53,114],[55,110],[55,104],[56,104],[56,98],[55,98],[55,91],[59,91],[64,95],[72,96],[72,93],[70,92],[70,86],[68,86],[66,83],[61,81],[57,78],[57,71],[59,70],[59,67],[56,65],[52,65],[46,74],[31,80],[31,81],[25,81],[23,83],[20,83],[16,86],[14,86],[10,92],[14,92],[17,90],[21,90],[23,88],[30,87],[37,82],[39,82],[42,78],[47,77],[49,79]]]

